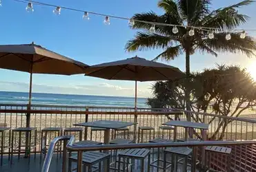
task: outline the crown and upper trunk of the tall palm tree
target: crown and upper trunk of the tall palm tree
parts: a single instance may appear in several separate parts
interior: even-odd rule
[[[249,19],[244,14],[239,14],[237,8],[248,6],[253,0],[245,0],[226,8],[219,8],[210,11],[211,0],[160,0],[158,7],[164,10],[164,14],[158,15],[155,12],[135,14],[133,29],[144,30],[137,32],[135,39],[128,41],[126,50],[133,52],[137,50],[152,50],[161,48],[164,50],[157,58],[166,61],[186,54],[186,74],[190,75],[190,55],[195,52],[207,52],[217,56],[217,52],[242,52],[246,56],[253,56],[256,50],[256,42],[253,37],[240,38],[240,32],[231,32],[237,26],[246,23]],[[139,21],[150,21],[173,25],[187,25],[179,27],[179,32],[173,33],[173,26],[155,25],[155,33],[150,33],[152,24]],[[195,30],[194,36],[189,36],[190,27],[216,28],[214,39],[208,39],[208,30]],[[230,32],[228,32],[230,31]],[[231,39],[226,40],[226,34]]]

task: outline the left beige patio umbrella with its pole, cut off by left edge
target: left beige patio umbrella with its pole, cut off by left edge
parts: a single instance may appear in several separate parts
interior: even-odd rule
[[[84,74],[88,65],[47,50],[40,45],[0,45],[0,68],[30,73],[28,107],[31,105],[32,74]],[[27,116],[30,126],[30,114]]]

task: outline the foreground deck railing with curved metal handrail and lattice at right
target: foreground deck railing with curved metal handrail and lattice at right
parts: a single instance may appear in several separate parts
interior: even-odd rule
[[[230,171],[255,171],[255,166],[253,166],[253,159],[255,158],[254,152],[251,151],[250,153],[246,153],[246,157],[244,157],[242,151],[243,147],[253,147],[256,144],[256,141],[206,141],[206,142],[167,142],[167,143],[139,143],[139,144],[103,144],[103,145],[92,145],[92,146],[75,146],[72,144],[74,142],[74,138],[70,136],[66,136],[66,138],[57,137],[55,140],[52,140],[50,144],[50,150],[48,151],[48,155],[46,156],[46,159],[43,163],[42,172],[48,172],[49,166],[50,166],[50,160],[52,157],[53,149],[57,142],[59,140],[69,140],[66,148],[69,152],[77,152],[77,171],[81,171],[82,169],[82,156],[81,154],[84,151],[106,151],[106,150],[115,150],[115,149],[154,149],[154,148],[166,148],[166,147],[191,147],[193,148],[193,161],[191,166],[191,171],[196,171],[196,169],[199,166],[195,166],[196,160],[201,160],[199,150],[201,147],[206,146],[221,146],[221,147],[232,147],[232,160],[230,166],[226,166],[224,163],[226,160],[224,160],[221,156],[217,156],[217,158],[211,158],[210,160],[221,160],[221,162],[217,162],[219,166],[215,166],[216,162],[213,161],[213,163],[206,164],[208,165],[208,168],[214,168],[217,170],[225,170],[227,167],[230,168]],[[66,145],[66,144],[64,144]],[[235,149],[234,149],[235,147]],[[67,152],[66,150],[63,151],[63,171],[66,171],[67,166],[66,164],[69,164],[67,162]],[[70,154],[70,153],[68,153]],[[235,155],[236,160],[233,159]],[[249,159],[249,160],[248,160]]]

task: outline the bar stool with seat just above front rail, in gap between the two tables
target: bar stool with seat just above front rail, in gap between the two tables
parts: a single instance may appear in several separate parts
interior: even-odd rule
[[[173,142],[173,140],[167,140],[164,138],[155,138],[153,140],[149,140],[149,142],[155,142],[155,143],[163,143],[163,142]],[[159,169],[164,169],[164,166],[160,166],[159,162],[164,162],[163,159],[160,158],[160,148],[157,148],[157,160],[154,159],[154,148],[152,148],[152,162],[150,163],[151,166],[155,166]],[[157,164],[155,164],[155,162],[157,162]],[[166,166],[166,169],[168,169],[168,167],[170,166],[171,162],[168,162],[168,166]]]

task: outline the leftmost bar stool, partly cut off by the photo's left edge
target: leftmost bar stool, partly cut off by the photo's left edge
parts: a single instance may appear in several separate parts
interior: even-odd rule
[[[6,133],[9,131],[9,144],[8,146],[6,146]],[[3,153],[4,153],[4,149],[9,149],[9,153],[8,153],[8,160],[10,160],[10,136],[11,136],[11,129],[10,127],[0,127],[0,133],[1,133],[1,148],[0,148],[0,152],[1,152],[1,166],[3,165]]]

